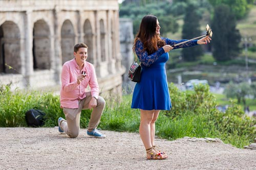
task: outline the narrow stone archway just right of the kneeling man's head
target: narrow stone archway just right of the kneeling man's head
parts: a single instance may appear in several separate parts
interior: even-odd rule
[[[89,19],[87,19],[84,22],[83,32],[84,32],[83,41],[88,46],[87,61],[94,64],[94,63],[96,63],[96,61],[94,61],[94,55],[93,55],[93,32],[92,32],[91,22]]]

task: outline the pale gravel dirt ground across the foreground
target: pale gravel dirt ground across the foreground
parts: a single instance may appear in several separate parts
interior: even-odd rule
[[[256,169],[256,150],[222,142],[156,139],[166,160],[146,160],[137,133],[81,129],[77,138],[57,128],[0,128],[0,169]]]

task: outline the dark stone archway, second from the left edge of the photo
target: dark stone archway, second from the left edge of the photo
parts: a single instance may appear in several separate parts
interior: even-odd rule
[[[50,69],[50,29],[44,20],[37,20],[33,28],[33,68]]]

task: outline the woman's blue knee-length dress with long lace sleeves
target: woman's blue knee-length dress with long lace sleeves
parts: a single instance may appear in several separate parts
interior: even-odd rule
[[[173,45],[186,40],[170,40],[162,38],[166,44]],[[178,45],[175,48],[193,46],[197,40]],[[170,110],[172,103],[168,90],[165,63],[169,59],[169,54],[165,53],[163,48],[159,48],[155,53],[148,55],[143,51],[143,43],[138,40],[135,44],[135,52],[138,56],[142,70],[141,80],[136,83],[132,106],[133,109],[143,110]]]

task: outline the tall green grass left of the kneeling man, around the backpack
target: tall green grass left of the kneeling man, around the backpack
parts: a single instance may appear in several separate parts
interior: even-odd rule
[[[32,108],[47,113],[47,127],[56,126],[57,118],[65,116],[60,108],[59,97],[42,91],[11,91],[9,86],[2,86],[0,105],[0,127],[26,127],[25,113]]]

